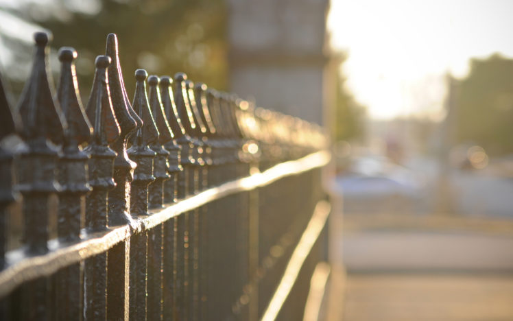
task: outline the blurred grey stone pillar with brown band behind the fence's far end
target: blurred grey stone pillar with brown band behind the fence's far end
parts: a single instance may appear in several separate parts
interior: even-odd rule
[[[326,123],[336,68],[326,50],[329,0],[230,0],[230,91]]]

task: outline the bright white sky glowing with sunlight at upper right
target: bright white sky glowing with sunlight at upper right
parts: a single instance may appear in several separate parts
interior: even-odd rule
[[[347,86],[375,119],[440,118],[444,74],[499,52],[513,58],[513,0],[331,0]]]

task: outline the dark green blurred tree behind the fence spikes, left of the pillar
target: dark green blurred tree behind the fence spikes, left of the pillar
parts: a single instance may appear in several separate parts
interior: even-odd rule
[[[16,13],[53,33],[53,48],[77,49],[77,77],[84,97],[93,81],[95,56],[105,53],[107,34],[119,38],[129,96],[133,73],[174,75],[226,89],[224,0],[23,0]]]

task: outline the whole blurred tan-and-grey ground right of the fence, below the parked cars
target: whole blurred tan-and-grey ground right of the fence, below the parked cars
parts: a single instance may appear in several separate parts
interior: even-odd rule
[[[326,320],[513,320],[511,222],[389,218],[334,212],[331,258],[348,273]]]

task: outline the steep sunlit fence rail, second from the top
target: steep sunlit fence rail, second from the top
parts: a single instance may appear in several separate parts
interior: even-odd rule
[[[330,211],[331,205],[326,201],[318,202],[317,206],[315,206],[312,218],[301,235],[301,239],[294,249],[294,252],[292,252],[287,268],[285,268],[285,272],[283,273],[280,283],[278,284],[269,305],[267,305],[267,308],[263,313],[261,321],[276,320],[281,307],[283,307],[283,303],[287,299],[287,296],[289,296],[294,283],[296,283],[296,279],[298,278],[298,274],[303,263],[305,263],[311,248],[315,244],[315,241],[317,241],[322,228],[324,228],[324,225],[326,224]]]

